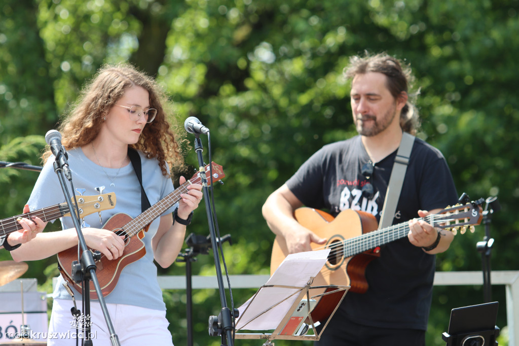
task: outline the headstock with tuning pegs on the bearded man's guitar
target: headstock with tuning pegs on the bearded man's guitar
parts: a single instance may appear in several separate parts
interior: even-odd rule
[[[474,225],[481,223],[483,208],[475,202],[447,207],[432,216],[434,227],[464,234],[467,228],[474,233]]]

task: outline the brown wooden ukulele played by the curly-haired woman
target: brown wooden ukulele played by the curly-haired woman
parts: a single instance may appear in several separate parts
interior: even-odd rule
[[[213,176],[212,181],[218,181],[225,177],[222,166],[211,163]],[[209,172],[209,165],[205,167],[206,172]],[[179,202],[182,193],[187,193],[187,186],[190,184],[200,184],[202,181],[200,174],[195,174],[191,179],[180,185],[173,192],[162,198],[160,201],[146,209],[142,214],[132,219],[129,215],[122,212],[112,216],[103,225],[103,229],[112,230],[118,235],[124,235],[125,249],[122,256],[115,260],[108,260],[104,255],[95,262],[97,267],[96,275],[98,277],[99,285],[103,297],[110,294],[119,280],[121,271],[130,263],[139,260],[146,254],[146,248],[142,238],[149,228],[149,224],[158,218],[163,212],[171,208],[175,203]],[[208,184],[211,183],[208,177]],[[77,246],[71,247],[64,251],[58,252],[58,269],[63,275],[63,278],[71,284],[75,289],[81,292],[82,283],[76,283],[73,280],[72,264],[77,261]],[[95,249],[90,249],[94,252]],[[95,288],[90,288],[90,298],[98,299]]]

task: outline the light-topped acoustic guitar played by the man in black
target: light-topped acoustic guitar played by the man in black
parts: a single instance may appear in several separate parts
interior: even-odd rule
[[[380,256],[380,246],[406,237],[409,233],[408,222],[377,230],[378,223],[372,214],[352,209],[343,210],[334,218],[324,211],[302,207],[295,210],[294,216],[299,224],[327,239],[325,245],[311,243],[312,250],[331,249],[312,286],[350,286],[349,290],[357,293],[364,293],[368,288],[365,269],[368,263]],[[420,219],[456,234],[458,230],[465,233],[468,226],[474,232],[473,225],[480,224],[482,218],[481,206],[467,203],[447,207],[438,214]],[[271,274],[287,255],[289,253],[284,238],[276,236],[270,259]],[[324,321],[341,297],[342,293],[316,298],[318,303],[311,313],[313,321]]]

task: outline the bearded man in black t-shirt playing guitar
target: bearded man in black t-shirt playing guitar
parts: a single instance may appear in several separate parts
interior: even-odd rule
[[[295,220],[294,210],[303,205],[333,216],[345,209],[367,211],[378,221],[403,131],[416,132],[408,66],[387,54],[356,56],[344,75],[352,80],[350,101],[359,136],[325,145],[263,206],[269,228],[284,238],[290,253],[326,243]],[[372,191],[363,191],[367,183]],[[453,235],[415,218],[456,202],[443,155],[415,138],[393,219],[393,224],[409,220],[409,233],[384,246],[367,265],[367,291],[348,292],[317,345],[425,345],[434,254],[445,251]]]

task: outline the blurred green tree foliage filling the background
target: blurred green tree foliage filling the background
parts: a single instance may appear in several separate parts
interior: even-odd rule
[[[227,175],[214,188],[220,231],[233,237],[232,246],[224,245],[227,266],[231,274],[266,274],[274,236],[261,216],[263,202],[323,144],[356,134],[342,70],[351,55],[388,51],[413,68],[421,94],[418,136],[444,153],[458,193],[498,196],[492,268],[513,270],[518,8],[517,0],[5,0],[0,159],[38,164],[43,140],[33,136],[56,126],[101,64],[131,61],[171,95],[173,121],[195,115],[212,130],[211,148],[203,138],[204,155],[207,161],[211,149]],[[186,137],[185,148],[192,139]],[[186,161],[197,166],[192,150]],[[36,175],[0,170],[1,217],[19,214]],[[207,234],[203,215],[189,232]],[[483,226],[458,235],[438,256],[438,270],[481,270],[475,244],[483,236]],[[54,259],[30,267],[26,275],[41,284],[55,275]],[[212,256],[198,256],[194,272],[214,275]],[[183,275],[184,265],[161,273]],[[252,292],[235,290],[235,303]],[[502,287],[493,293],[504,326]],[[184,344],[185,292],[164,295],[174,341]],[[450,309],[482,302],[479,287],[436,287],[428,344],[442,344]],[[195,291],[194,303],[195,343],[219,344],[206,336],[208,316],[220,310],[217,292]]]

